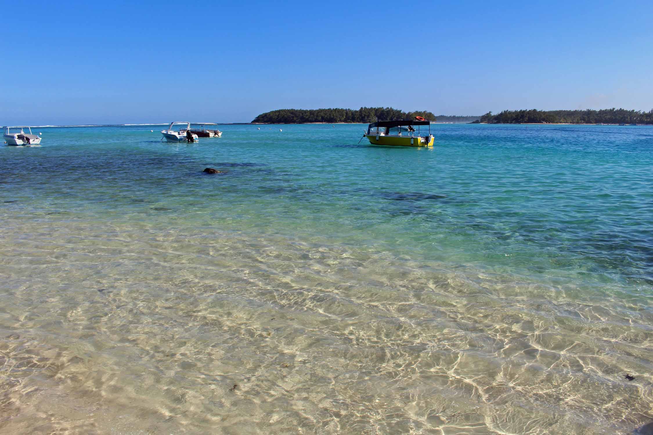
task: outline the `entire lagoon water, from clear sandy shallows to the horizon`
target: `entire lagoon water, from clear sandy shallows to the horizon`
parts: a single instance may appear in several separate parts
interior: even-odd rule
[[[0,147],[2,432],[653,420],[653,127],[162,128]]]

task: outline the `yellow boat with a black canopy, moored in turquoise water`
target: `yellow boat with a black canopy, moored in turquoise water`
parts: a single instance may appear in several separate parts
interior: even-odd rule
[[[428,125],[428,135],[420,134],[420,126]],[[417,127],[417,130],[415,129]],[[374,130],[375,129],[375,130]],[[377,121],[368,125],[364,134],[372,145],[390,145],[395,147],[432,147],[434,137],[431,134],[430,121],[422,119],[400,119],[398,121]]]

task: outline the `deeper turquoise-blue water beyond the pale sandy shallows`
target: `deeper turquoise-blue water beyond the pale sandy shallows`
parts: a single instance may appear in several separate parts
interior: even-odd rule
[[[229,125],[197,145],[153,128],[42,128],[41,147],[2,148],[5,212],[214,223],[635,294],[653,282],[653,127],[436,125],[434,149],[356,145],[361,125]]]

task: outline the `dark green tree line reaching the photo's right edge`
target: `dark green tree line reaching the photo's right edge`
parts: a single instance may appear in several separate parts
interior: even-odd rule
[[[485,113],[477,122],[488,124],[569,123],[569,124],[653,124],[650,112],[626,109],[602,110],[504,110]]]

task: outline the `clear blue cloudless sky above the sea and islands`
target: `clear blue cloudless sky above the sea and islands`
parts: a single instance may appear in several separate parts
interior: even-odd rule
[[[651,1],[0,5],[0,125],[653,108]]]

